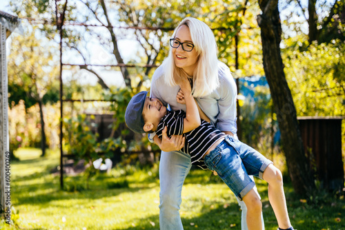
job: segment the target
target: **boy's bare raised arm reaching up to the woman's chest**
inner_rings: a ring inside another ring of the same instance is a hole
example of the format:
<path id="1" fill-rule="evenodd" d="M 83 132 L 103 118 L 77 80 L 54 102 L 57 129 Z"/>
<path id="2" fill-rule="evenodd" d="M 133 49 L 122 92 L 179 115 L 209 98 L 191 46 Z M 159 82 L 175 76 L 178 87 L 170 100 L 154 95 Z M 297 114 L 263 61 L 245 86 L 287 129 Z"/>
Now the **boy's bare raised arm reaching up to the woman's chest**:
<path id="1" fill-rule="evenodd" d="M 186 118 L 184 118 L 184 133 L 186 133 L 199 127 L 201 121 L 189 81 L 187 79 L 181 79 L 179 86 L 184 93 L 184 100 L 186 101 Z"/>

